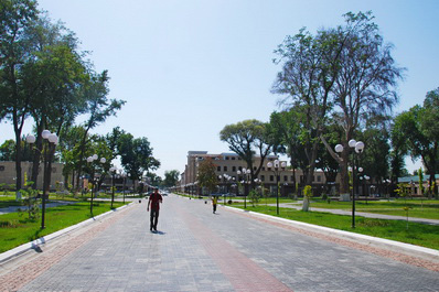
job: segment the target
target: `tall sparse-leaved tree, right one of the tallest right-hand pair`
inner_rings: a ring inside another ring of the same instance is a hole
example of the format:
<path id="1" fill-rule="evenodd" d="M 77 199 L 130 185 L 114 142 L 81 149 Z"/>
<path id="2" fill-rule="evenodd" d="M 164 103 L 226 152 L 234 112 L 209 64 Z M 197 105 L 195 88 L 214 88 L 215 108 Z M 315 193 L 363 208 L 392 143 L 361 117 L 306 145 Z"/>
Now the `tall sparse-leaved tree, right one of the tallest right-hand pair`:
<path id="1" fill-rule="evenodd" d="M 338 73 L 331 88 L 334 111 L 344 129 L 341 158 L 325 143 L 328 151 L 340 164 L 341 193 L 349 193 L 347 161 L 353 138 L 365 120 L 385 117 L 398 101 L 395 87 L 404 68 L 397 67 L 392 57 L 390 44 L 386 44 L 378 26 L 372 22 L 371 12 L 349 12 L 345 25 L 339 25 L 338 43 L 343 44 L 338 56 Z M 321 136 L 323 140 L 323 136 Z"/>

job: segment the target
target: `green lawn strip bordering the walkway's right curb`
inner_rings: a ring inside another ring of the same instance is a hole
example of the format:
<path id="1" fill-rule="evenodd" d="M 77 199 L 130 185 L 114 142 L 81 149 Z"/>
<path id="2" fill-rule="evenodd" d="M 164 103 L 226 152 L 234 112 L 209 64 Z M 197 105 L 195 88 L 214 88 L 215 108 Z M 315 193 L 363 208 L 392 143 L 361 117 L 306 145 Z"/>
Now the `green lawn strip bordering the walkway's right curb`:
<path id="1" fill-rule="evenodd" d="M 237 207 L 235 205 L 233 206 Z M 240 206 L 239 208 L 243 207 Z M 247 205 L 247 210 L 277 216 L 276 207 L 272 206 L 266 207 L 265 205 L 259 205 L 253 207 Z M 392 239 L 432 249 L 439 249 L 439 226 L 416 224 L 409 221 L 407 230 L 407 223 L 405 220 L 382 220 L 356 217 L 356 228 L 352 229 L 351 216 L 334 215 L 321 212 L 301 212 L 290 208 L 280 208 L 279 213 L 279 217 L 287 219 Z"/>

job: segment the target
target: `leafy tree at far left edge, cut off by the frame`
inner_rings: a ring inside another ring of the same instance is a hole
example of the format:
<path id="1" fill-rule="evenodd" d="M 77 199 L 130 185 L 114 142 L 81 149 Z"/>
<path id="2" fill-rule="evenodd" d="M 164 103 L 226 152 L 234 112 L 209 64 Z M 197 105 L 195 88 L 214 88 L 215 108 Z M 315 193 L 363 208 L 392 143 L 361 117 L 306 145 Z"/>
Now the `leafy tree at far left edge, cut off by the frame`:
<path id="1" fill-rule="evenodd" d="M 29 116 L 30 97 L 23 93 L 21 67 L 29 61 L 28 29 L 38 19 L 36 2 L 4 0 L 0 2 L 0 120 L 12 121 L 15 133 L 15 190 L 21 190 L 21 136 Z"/>

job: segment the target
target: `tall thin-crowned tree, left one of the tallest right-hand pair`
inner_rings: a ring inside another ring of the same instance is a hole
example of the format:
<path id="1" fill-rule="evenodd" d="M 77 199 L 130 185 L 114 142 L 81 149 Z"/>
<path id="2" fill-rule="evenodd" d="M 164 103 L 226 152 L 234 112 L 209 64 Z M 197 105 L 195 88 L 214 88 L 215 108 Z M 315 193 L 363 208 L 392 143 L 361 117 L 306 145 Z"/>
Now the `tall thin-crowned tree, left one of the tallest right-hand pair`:
<path id="1" fill-rule="evenodd" d="M 275 51 L 279 56 L 275 63 L 282 63 L 282 71 L 271 91 L 286 95 L 280 104 L 300 112 L 301 142 L 307 156 L 306 184 L 311 184 L 314 176 L 319 137 L 332 108 L 331 90 L 344 41 L 334 30 L 322 30 L 314 36 L 301 29 L 295 36 L 287 36 Z"/>

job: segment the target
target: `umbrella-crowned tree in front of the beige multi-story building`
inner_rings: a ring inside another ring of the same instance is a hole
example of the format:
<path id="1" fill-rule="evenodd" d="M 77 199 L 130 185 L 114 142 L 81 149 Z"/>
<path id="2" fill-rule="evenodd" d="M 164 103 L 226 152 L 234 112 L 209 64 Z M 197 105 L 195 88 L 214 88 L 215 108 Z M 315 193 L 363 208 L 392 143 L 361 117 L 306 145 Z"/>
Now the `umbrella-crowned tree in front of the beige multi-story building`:
<path id="1" fill-rule="evenodd" d="M 258 176 L 265 159 L 272 149 L 274 141 L 267 131 L 267 125 L 255 119 L 227 125 L 220 132 L 220 139 L 227 142 L 228 148 L 246 162 L 247 169 L 250 170 L 251 187 L 254 187 L 254 180 Z M 259 165 L 254 165 L 255 153 L 260 158 Z"/>

